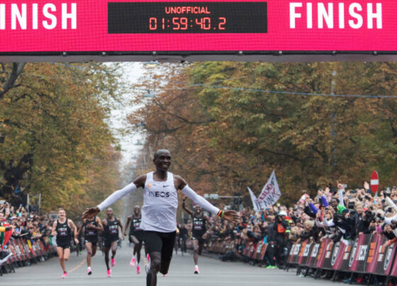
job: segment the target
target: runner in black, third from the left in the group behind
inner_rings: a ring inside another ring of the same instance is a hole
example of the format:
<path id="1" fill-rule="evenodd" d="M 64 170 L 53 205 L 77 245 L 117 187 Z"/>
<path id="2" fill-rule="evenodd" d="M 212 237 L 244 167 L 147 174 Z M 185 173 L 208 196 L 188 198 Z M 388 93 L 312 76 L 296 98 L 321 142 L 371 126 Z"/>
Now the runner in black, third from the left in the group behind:
<path id="1" fill-rule="evenodd" d="M 102 221 L 104 225 L 104 252 L 105 252 L 105 263 L 106 263 L 106 270 L 107 275 L 110 278 L 111 275 L 111 268 L 109 267 L 109 251 L 112 252 L 111 255 L 111 267 L 116 265 L 116 251 L 117 251 L 117 242 L 118 242 L 118 227 L 121 228 L 121 234 L 124 239 L 123 234 L 123 225 L 120 222 L 120 219 L 117 219 L 113 216 L 113 210 L 111 207 L 108 207 L 106 211 L 108 217 Z"/>

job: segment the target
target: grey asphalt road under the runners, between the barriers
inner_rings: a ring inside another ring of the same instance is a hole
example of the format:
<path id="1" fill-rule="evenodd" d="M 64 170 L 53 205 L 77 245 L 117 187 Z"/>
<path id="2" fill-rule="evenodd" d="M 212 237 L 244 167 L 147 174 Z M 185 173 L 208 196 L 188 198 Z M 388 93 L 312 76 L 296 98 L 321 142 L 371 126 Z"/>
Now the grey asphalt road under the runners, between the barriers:
<path id="1" fill-rule="evenodd" d="M 118 248 L 116 265 L 112 269 L 113 278 L 106 277 L 104 256 L 101 252 L 93 258 L 92 275 L 86 274 L 85 254 L 77 257 L 72 253 L 67 261 L 67 279 L 61 279 L 62 269 L 57 258 L 17 268 L 16 273 L 9 273 L 0 277 L 0 285 L 142 285 L 145 286 L 145 267 L 141 262 L 142 272 L 136 274 L 136 268 L 128 264 L 132 248 L 123 246 Z M 174 255 L 172 258 L 169 275 L 157 278 L 159 286 L 232 286 L 232 285 L 334 285 L 328 280 L 314 280 L 313 278 L 300 278 L 295 270 L 269 270 L 245 263 L 221 262 L 213 258 L 200 257 L 198 266 L 201 273 L 194 275 L 193 256 L 185 254 Z"/>

